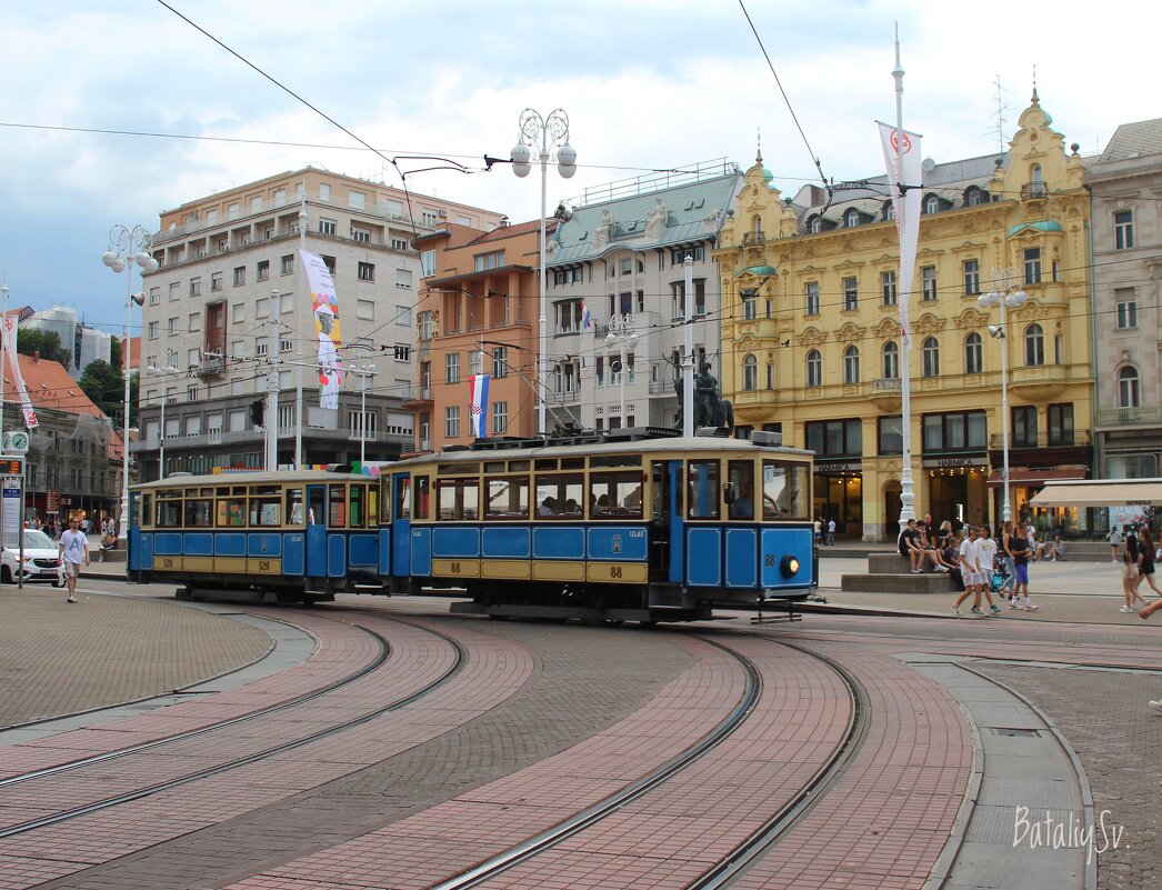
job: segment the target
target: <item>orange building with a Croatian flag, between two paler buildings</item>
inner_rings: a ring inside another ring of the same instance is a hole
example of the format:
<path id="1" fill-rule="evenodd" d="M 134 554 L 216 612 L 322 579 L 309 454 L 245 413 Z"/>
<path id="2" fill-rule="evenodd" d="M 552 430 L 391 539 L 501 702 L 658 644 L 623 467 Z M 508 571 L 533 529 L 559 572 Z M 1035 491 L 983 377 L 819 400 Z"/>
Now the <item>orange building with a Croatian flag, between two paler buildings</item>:
<path id="1" fill-rule="evenodd" d="M 413 242 L 423 285 L 418 376 L 404 407 L 416 412 L 419 451 L 476 438 L 472 375 L 480 373 L 492 375 L 487 435 L 537 435 L 539 228 L 539 220 L 487 232 L 450 223 Z"/>

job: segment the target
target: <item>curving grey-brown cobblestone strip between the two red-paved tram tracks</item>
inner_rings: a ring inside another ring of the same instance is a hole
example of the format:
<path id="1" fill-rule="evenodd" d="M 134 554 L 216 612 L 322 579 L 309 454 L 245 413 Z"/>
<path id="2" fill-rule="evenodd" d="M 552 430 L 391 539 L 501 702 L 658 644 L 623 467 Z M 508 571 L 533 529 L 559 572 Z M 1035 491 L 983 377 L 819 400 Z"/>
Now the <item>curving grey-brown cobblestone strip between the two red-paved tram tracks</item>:
<path id="1" fill-rule="evenodd" d="M 457 625 L 532 649 L 540 662 L 532 682 L 507 705 L 402 755 L 42 887 L 157 890 L 158 875 L 172 882 L 167 887 L 222 887 L 366 834 L 555 754 L 633 711 L 690 663 L 665 633 L 486 624 L 444 616 L 432 622 L 436 627 Z M 627 640 L 632 645 L 626 646 Z"/>

